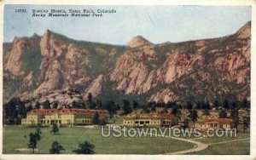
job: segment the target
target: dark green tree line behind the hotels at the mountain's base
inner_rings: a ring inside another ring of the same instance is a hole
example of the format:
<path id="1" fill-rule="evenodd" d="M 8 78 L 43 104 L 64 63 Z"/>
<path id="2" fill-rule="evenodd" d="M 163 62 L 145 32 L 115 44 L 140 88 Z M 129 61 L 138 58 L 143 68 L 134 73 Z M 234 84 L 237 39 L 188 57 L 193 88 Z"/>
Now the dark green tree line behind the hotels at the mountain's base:
<path id="1" fill-rule="evenodd" d="M 37 108 L 40 106 L 47 106 L 49 108 L 50 103 L 49 100 L 45 101 L 43 104 L 36 103 Z M 57 106 L 58 104 L 53 104 L 53 106 Z M 74 106 L 75 107 L 75 106 Z M 228 109 L 232 110 L 234 108 L 250 108 L 250 100 L 198 100 L 198 101 L 168 101 L 168 102 L 155 102 L 149 101 L 147 103 L 140 103 L 137 100 L 126 100 L 123 99 L 120 102 L 115 102 L 113 100 L 102 101 L 100 99 L 94 99 L 92 94 L 88 94 L 87 99 L 84 100 L 84 106 L 78 106 L 79 108 L 84 109 L 104 109 L 109 113 L 109 117 L 112 118 L 117 111 L 120 111 L 120 114 L 127 115 L 132 111 L 137 109 L 142 109 L 141 113 L 149 113 L 156 112 L 156 108 L 163 107 L 165 108 L 160 113 L 168 112 L 167 109 L 173 109 L 174 113 L 177 112 L 177 108 L 179 109 L 201 109 L 201 110 L 210 110 L 212 108 L 215 109 Z M 20 124 L 21 118 L 26 117 L 26 113 L 32 110 L 32 106 L 25 107 L 25 103 L 19 100 L 18 98 L 14 98 L 9 100 L 3 106 L 3 123 L 5 124 Z M 102 122 L 104 123 L 104 122 Z"/>

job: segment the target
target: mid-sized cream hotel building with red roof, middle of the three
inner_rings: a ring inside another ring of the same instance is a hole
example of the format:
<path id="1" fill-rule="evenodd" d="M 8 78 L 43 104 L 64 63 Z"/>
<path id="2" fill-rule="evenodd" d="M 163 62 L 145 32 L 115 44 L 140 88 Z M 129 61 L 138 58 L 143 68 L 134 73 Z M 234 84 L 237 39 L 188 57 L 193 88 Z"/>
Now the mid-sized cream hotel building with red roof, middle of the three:
<path id="1" fill-rule="evenodd" d="M 128 127 L 171 127 L 178 123 L 172 114 L 151 113 L 131 114 L 124 117 L 124 125 Z"/>

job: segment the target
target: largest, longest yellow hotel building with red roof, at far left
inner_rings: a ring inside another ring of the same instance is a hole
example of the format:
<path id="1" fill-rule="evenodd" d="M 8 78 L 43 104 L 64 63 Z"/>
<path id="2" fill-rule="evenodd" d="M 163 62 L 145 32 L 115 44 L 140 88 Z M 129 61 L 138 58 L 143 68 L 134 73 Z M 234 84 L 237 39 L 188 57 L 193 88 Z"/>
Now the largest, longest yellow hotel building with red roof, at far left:
<path id="1" fill-rule="evenodd" d="M 60 126 L 88 125 L 96 114 L 108 122 L 108 111 L 84 109 L 38 109 L 29 111 L 26 118 L 21 119 L 22 125 L 49 126 L 54 123 Z"/>

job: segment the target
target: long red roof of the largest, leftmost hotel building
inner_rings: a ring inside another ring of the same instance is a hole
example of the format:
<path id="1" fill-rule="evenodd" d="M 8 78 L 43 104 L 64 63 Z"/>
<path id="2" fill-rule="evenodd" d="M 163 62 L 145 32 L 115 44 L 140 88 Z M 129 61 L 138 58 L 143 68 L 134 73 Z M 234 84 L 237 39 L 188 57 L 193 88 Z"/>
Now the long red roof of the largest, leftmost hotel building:
<path id="1" fill-rule="evenodd" d="M 51 113 L 84 113 L 84 114 L 95 114 L 98 112 L 99 114 L 108 114 L 108 111 L 105 110 L 84 110 L 84 109 L 38 109 L 29 111 L 29 114 L 51 114 Z"/>

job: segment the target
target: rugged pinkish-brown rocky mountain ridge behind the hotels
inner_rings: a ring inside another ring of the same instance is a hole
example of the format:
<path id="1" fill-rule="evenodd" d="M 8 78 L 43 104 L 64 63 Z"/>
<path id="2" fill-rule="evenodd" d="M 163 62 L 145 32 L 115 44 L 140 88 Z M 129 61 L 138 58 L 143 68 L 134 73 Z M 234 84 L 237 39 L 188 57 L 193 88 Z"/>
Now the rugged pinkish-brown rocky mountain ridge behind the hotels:
<path id="1" fill-rule="evenodd" d="M 88 93 L 103 100 L 242 100 L 250 96 L 250 32 L 248 22 L 226 37 L 154 44 L 137 36 L 127 46 L 79 42 L 53 31 L 17 37 L 3 43 L 3 101 L 41 102 L 44 94 L 52 104 L 49 93 L 65 89 L 80 93 L 64 98 L 69 104 Z"/>

